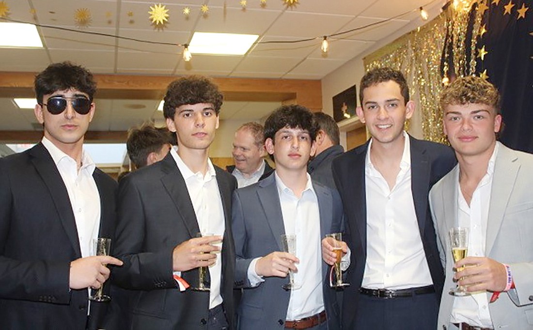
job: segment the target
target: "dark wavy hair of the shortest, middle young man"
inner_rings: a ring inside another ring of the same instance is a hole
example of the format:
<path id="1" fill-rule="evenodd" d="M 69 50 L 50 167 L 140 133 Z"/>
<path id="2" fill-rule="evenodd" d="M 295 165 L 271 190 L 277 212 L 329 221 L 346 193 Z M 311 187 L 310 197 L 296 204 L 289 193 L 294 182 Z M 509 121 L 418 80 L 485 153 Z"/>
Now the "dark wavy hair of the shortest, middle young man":
<path id="1" fill-rule="evenodd" d="M 313 113 L 302 105 L 282 105 L 274 110 L 265 121 L 265 139 L 271 138 L 274 143 L 277 131 L 285 127 L 307 130 L 311 141 L 317 137 L 318 123 Z"/>

